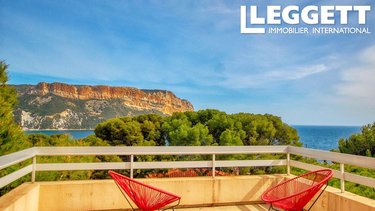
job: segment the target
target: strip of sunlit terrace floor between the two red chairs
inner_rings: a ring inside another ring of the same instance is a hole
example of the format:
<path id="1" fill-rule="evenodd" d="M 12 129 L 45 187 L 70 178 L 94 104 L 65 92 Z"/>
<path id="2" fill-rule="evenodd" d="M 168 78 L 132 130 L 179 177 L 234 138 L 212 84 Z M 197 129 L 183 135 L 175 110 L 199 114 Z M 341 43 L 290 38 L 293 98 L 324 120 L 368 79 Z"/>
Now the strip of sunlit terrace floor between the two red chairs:
<path id="1" fill-rule="evenodd" d="M 266 203 L 260 203 L 260 204 L 244 204 L 244 205 L 229 205 L 229 206 L 177 208 L 175 209 L 175 211 L 268 211 L 269 208 L 270 208 L 270 205 Z M 280 211 L 284 210 L 280 208 L 277 208 L 277 209 Z"/>

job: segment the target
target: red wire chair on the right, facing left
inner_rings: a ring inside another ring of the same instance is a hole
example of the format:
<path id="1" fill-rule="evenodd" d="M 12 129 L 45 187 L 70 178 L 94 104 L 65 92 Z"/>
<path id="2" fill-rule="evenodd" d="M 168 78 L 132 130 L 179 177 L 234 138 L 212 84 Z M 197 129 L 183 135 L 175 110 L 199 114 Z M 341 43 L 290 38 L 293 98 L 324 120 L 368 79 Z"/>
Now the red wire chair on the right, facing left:
<path id="1" fill-rule="evenodd" d="M 331 169 L 305 173 L 270 188 L 262 194 L 262 200 L 271 205 L 268 209 L 269 211 L 271 208 L 277 211 L 272 205 L 283 208 L 286 211 L 301 211 L 325 183 L 327 183 L 326 187 L 328 186 L 328 180 L 332 175 L 333 170 Z M 324 187 L 323 191 L 326 187 Z M 318 198 L 308 210 L 312 208 Z"/>

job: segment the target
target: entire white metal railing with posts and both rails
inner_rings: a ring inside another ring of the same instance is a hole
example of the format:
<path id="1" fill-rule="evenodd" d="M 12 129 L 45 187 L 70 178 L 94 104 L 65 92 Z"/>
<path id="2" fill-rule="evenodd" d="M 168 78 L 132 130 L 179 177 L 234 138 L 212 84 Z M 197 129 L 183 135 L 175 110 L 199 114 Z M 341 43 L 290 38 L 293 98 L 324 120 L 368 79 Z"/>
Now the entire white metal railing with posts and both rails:
<path id="1" fill-rule="evenodd" d="M 286 153 L 283 160 L 215 160 L 216 154 L 281 154 Z M 134 155 L 194 155 L 211 154 L 210 161 L 154 161 L 134 162 Z M 35 171 L 48 170 L 104 170 L 130 169 L 169 169 L 192 167 L 243 167 L 243 166 L 290 166 L 306 170 L 325 169 L 321 166 L 290 160 L 290 154 L 318 158 L 340 163 L 341 170 L 333 170 L 333 177 L 341 179 L 341 192 L 344 193 L 344 181 L 375 188 L 375 179 L 344 172 L 344 164 L 375 169 L 375 158 L 357 155 L 328 152 L 317 149 L 306 149 L 294 146 L 67 146 L 67 147 L 33 147 L 0 157 L 0 169 L 33 158 L 33 164 L 23 167 L 0 178 L 0 187 L 21 178 L 31 172 L 31 182 L 35 181 Z M 36 156 L 53 155 L 130 155 L 130 162 L 117 163 L 36 163 Z M 213 177 L 215 172 L 213 171 Z"/>

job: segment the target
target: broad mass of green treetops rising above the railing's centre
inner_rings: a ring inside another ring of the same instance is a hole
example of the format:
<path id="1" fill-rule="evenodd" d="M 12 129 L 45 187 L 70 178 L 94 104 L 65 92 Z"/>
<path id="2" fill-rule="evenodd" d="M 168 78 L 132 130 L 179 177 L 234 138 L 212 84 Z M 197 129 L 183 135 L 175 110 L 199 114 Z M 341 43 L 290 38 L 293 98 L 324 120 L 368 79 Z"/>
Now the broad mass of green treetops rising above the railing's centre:
<path id="1" fill-rule="evenodd" d="M 96 137 L 112 146 L 133 146 L 153 142 L 155 146 L 302 146 L 297 130 L 269 114 L 237 113 L 219 110 L 176 112 L 120 117 L 98 124 Z"/>

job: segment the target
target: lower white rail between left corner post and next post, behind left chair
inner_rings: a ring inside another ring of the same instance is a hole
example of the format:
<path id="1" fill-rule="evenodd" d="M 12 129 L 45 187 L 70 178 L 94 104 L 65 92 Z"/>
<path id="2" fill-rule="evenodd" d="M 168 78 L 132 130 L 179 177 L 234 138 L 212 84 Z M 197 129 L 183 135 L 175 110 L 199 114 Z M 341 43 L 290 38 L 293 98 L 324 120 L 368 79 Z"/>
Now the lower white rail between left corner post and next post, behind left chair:
<path id="1" fill-rule="evenodd" d="M 56 170 L 105 170 L 105 169 L 130 169 L 130 162 L 113 163 L 37 163 L 37 171 Z"/>

